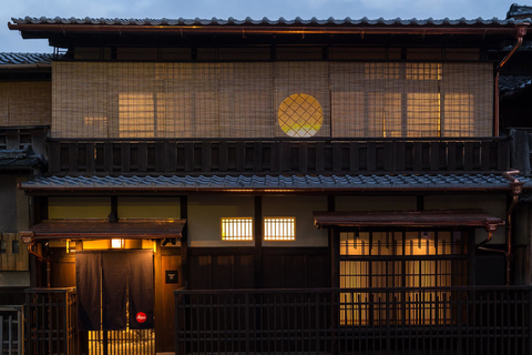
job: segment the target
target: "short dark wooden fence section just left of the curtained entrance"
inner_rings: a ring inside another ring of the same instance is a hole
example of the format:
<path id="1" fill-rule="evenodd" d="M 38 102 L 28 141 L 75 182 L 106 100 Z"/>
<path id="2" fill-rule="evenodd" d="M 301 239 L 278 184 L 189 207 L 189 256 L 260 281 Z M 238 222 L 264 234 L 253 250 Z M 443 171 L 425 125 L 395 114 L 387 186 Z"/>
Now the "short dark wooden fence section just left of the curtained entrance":
<path id="1" fill-rule="evenodd" d="M 75 306 L 73 287 L 28 288 L 27 354 L 79 354 Z"/>

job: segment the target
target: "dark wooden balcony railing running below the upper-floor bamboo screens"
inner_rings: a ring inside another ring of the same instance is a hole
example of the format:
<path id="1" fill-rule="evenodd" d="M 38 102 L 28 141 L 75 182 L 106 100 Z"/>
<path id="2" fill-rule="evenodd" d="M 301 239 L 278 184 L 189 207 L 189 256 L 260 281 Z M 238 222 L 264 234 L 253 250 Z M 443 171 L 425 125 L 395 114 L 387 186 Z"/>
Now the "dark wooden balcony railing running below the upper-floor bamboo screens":
<path id="1" fill-rule="evenodd" d="M 49 173 L 364 174 L 510 169 L 509 138 L 49 141 Z"/>

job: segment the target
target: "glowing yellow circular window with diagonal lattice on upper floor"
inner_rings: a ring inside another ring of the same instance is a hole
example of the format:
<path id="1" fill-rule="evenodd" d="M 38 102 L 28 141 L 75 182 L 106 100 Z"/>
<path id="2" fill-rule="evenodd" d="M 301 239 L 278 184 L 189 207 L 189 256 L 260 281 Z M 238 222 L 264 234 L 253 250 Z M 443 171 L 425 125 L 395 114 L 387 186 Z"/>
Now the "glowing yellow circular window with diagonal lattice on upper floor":
<path id="1" fill-rule="evenodd" d="M 283 132 L 296 138 L 315 135 L 324 123 L 318 100 L 305 93 L 295 93 L 283 100 L 277 116 Z"/>

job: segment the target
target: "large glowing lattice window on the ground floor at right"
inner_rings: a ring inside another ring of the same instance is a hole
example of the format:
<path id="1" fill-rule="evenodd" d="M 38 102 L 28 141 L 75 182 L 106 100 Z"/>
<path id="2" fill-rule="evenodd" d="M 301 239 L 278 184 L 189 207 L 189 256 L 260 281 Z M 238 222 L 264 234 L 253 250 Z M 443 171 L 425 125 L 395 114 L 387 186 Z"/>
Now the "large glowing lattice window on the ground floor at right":
<path id="1" fill-rule="evenodd" d="M 461 285 L 466 277 L 462 268 L 464 262 L 443 258 L 451 254 L 462 257 L 467 255 L 460 232 L 340 233 L 340 287 L 346 291 L 340 294 L 341 324 L 450 323 L 450 310 L 433 306 L 437 300 L 449 302 L 450 300 L 444 300 L 449 294 L 424 290 L 379 293 L 368 292 L 368 288 Z M 433 257 L 436 255 L 442 258 L 437 260 Z M 382 302 L 387 296 L 393 297 L 396 302 L 395 314 L 386 314 L 383 311 Z M 419 307 L 416 306 L 418 303 Z M 401 304 L 407 308 L 401 310 Z"/>

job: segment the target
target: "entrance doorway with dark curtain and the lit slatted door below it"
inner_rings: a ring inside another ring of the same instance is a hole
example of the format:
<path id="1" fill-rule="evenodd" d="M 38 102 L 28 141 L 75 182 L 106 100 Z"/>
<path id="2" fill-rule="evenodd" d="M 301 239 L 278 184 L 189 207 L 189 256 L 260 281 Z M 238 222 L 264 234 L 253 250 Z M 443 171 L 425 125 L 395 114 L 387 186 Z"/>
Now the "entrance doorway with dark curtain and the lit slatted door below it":
<path id="1" fill-rule="evenodd" d="M 89 354 L 155 354 L 153 252 L 81 251 L 75 273 Z"/>

